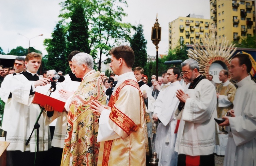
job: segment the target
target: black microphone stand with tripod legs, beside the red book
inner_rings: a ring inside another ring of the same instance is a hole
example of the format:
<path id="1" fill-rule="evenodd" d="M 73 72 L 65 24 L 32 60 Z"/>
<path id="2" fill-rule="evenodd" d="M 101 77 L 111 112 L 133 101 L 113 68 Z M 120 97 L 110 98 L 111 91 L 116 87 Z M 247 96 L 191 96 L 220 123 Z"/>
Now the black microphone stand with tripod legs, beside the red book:
<path id="1" fill-rule="evenodd" d="M 52 86 L 51 86 L 51 88 L 48 90 L 48 92 L 51 92 L 51 93 L 49 94 L 49 96 L 51 96 L 52 92 L 55 92 L 55 90 L 56 90 L 56 84 L 57 84 L 57 83 L 58 83 L 58 81 L 56 81 L 56 82 L 55 82 L 55 81 L 52 81 L 52 82 L 51 82 Z M 48 92 L 47 92 L 47 93 L 48 93 Z M 26 146 L 28 146 L 28 144 L 29 144 L 29 142 L 30 142 L 30 139 L 31 139 L 31 136 L 32 136 L 32 134 L 33 134 L 33 132 L 34 132 L 34 130 L 37 129 L 37 151 L 36 151 L 36 152 L 39 152 L 39 127 L 40 127 L 40 125 L 39 125 L 38 121 L 39 121 L 39 119 L 40 119 L 40 117 L 41 117 L 41 115 L 42 115 L 42 113 L 43 113 L 43 110 L 44 110 L 44 107 L 41 108 L 41 112 L 40 112 L 39 116 L 37 117 L 37 121 L 36 121 L 35 124 L 34 124 L 34 128 L 33 128 L 32 132 L 31 132 L 31 134 L 30 134 L 30 136 L 29 136 L 29 138 L 28 138 L 28 140 L 27 140 L 27 142 L 26 142 Z"/>

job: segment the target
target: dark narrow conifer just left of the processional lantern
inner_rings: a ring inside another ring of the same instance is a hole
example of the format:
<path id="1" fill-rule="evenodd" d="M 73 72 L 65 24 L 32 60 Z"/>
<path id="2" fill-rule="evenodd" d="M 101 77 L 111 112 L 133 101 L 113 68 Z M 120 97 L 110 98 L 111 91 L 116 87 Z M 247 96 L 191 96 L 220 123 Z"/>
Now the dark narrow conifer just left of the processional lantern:
<path id="1" fill-rule="evenodd" d="M 133 68 L 142 67 L 144 68 L 147 63 L 147 51 L 146 44 L 147 41 L 143 35 L 143 25 L 139 24 L 137 27 L 134 27 L 136 33 L 132 36 L 130 40 L 130 46 L 134 51 L 135 62 L 133 64 Z"/>

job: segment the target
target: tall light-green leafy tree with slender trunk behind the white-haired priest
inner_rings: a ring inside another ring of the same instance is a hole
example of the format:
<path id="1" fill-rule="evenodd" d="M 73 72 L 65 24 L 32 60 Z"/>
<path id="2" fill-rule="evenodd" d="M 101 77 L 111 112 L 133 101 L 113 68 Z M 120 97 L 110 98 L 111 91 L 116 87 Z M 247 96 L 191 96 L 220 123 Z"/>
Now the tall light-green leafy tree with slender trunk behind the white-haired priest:
<path id="1" fill-rule="evenodd" d="M 90 31 L 92 52 L 99 55 L 98 70 L 101 70 L 102 55 L 109 56 L 108 51 L 120 43 L 130 39 L 130 24 L 123 23 L 122 17 L 127 16 L 122 6 L 127 6 L 126 0 L 94 1 L 94 15 L 91 18 L 93 26 Z"/>

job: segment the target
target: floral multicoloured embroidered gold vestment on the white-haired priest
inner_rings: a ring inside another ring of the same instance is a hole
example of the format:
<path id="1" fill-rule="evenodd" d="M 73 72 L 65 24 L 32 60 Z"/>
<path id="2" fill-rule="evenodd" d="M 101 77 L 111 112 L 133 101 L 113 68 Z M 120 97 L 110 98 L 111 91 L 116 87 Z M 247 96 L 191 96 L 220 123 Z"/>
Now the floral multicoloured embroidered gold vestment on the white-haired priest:
<path id="1" fill-rule="evenodd" d="M 100 143 L 97 142 L 98 117 L 88 103 L 98 100 L 106 105 L 100 72 L 87 73 L 69 105 L 67 131 L 61 165 L 96 166 Z"/>

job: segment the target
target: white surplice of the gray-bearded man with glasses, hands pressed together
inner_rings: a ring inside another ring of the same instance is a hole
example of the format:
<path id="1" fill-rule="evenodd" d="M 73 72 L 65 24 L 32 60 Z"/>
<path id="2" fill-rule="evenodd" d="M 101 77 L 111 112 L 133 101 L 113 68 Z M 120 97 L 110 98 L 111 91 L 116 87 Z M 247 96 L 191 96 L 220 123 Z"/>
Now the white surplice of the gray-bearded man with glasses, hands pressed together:
<path id="1" fill-rule="evenodd" d="M 180 125 L 175 151 L 191 156 L 212 154 L 215 149 L 214 118 L 217 118 L 215 87 L 208 79 L 202 79 L 195 89 L 187 89 L 185 93 L 189 98 L 181 113 L 176 114 Z"/>

